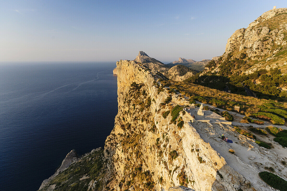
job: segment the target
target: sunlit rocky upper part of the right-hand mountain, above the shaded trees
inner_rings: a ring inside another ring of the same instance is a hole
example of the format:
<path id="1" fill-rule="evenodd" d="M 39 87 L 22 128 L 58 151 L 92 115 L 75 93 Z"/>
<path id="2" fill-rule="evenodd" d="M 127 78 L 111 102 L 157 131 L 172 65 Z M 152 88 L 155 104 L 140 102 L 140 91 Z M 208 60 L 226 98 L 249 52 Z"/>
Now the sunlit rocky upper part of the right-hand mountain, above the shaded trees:
<path id="1" fill-rule="evenodd" d="M 287 8 L 263 13 L 247 28 L 236 30 L 228 39 L 223 59 L 244 59 L 243 73 L 279 67 L 287 73 Z M 246 56 L 245 56 L 246 55 Z M 246 57 L 246 58 L 245 58 Z"/>

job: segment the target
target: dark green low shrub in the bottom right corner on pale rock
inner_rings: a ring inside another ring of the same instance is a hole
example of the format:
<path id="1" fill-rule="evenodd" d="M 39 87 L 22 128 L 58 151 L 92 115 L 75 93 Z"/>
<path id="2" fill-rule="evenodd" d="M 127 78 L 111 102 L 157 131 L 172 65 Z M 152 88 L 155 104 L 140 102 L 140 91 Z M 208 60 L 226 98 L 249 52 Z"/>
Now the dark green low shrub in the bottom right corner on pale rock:
<path id="1" fill-rule="evenodd" d="M 287 191 L 287 181 L 280 178 L 276 174 L 271 172 L 263 171 L 259 172 L 259 177 L 266 182 L 269 186 L 281 191 Z"/>

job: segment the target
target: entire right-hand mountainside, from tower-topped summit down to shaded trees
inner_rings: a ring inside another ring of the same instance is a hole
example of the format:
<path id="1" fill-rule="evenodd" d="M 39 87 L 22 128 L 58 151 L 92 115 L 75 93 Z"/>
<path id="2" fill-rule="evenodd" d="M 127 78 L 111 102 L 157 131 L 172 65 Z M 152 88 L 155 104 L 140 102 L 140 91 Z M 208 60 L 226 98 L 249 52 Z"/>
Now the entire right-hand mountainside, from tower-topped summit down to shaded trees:
<path id="1" fill-rule="evenodd" d="M 272 9 L 236 30 L 226 52 L 187 81 L 259 98 L 286 98 L 286 50 L 287 8 Z"/>

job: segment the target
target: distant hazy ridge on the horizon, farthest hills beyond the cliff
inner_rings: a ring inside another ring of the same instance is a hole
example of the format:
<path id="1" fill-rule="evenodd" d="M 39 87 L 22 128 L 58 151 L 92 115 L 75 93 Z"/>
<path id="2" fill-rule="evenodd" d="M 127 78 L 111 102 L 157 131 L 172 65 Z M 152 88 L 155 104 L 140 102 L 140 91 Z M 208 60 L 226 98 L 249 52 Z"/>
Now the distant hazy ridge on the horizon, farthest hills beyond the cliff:
<path id="1" fill-rule="evenodd" d="M 210 60 L 204 59 L 202 61 L 194 61 L 192 59 L 184 59 L 184 58 L 179 58 L 178 61 L 174 61 L 172 63 L 167 64 L 168 66 L 175 66 L 175 65 L 184 65 L 186 67 L 189 67 L 190 69 L 193 69 L 194 71 L 203 71 L 205 68 L 205 65 L 208 64 Z"/>

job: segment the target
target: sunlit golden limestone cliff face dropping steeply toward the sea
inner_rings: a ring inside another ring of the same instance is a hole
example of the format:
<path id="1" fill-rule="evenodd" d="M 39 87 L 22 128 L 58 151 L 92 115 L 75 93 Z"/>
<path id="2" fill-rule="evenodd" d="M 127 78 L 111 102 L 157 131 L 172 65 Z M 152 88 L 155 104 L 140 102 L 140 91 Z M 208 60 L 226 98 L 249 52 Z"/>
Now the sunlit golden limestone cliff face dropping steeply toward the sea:
<path id="1" fill-rule="evenodd" d="M 116 171 L 110 184 L 117 190 L 141 190 L 145 185 L 155 190 L 177 185 L 201 191 L 245 189 L 246 180 L 200 138 L 187 115 L 179 114 L 182 128 L 177 119 L 171 122 L 171 115 L 162 116 L 168 107 L 188 102 L 166 88 L 159 91 L 160 75 L 133 61 L 118 62 L 117 70 L 119 112 L 105 145 L 105 157 Z M 170 96 L 168 105 L 161 104 Z M 147 181 L 140 181 L 141 173 L 149 175 Z"/>

